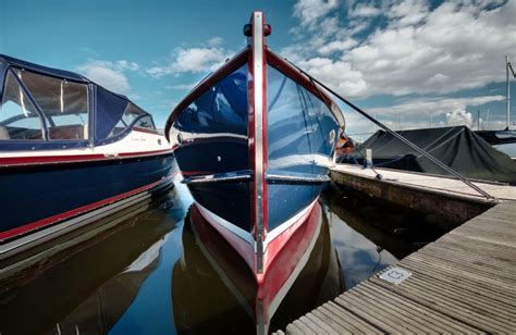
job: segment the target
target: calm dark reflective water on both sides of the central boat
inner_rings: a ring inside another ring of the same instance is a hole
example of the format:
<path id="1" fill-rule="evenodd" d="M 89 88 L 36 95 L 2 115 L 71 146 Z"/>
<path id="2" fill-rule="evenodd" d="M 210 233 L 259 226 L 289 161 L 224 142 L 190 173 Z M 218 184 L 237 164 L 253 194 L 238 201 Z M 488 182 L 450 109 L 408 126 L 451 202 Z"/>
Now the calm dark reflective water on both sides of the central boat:
<path id="1" fill-rule="evenodd" d="M 253 333 L 249 308 L 192 231 L 191 204 L 175 183 L 160 199 L 106 220 L 121 221 L 110 231 L 54 248 L 4 280 L 0 333 Z M 443 233 L 429 228 L 428 218 L 367 198 L 328 191 L 321 204 L 320 236 L 271 331 Z"/>

